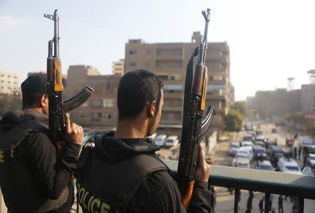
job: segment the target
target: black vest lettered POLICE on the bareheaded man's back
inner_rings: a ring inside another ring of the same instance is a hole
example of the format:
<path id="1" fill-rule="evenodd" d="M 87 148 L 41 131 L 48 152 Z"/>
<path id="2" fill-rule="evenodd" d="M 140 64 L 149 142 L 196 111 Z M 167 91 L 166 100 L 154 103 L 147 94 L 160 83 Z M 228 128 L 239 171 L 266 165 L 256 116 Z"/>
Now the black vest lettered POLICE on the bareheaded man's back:
<path id="1" fill-rule="evenodd" d="M 96 142 L 97 143 L 97 142 Z M 125 212 L 132 195 L 151 172 L 167 171 L 155 153 L 109 163 L 95 147 L 85 146 L 77 174 L 77 198 L 83 212 Z"/>

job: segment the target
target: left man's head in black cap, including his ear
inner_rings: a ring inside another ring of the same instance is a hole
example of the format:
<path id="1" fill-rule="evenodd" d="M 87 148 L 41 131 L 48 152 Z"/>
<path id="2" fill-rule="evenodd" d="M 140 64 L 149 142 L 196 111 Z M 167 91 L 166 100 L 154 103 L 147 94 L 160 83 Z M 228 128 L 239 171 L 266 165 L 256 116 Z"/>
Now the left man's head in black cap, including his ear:
<path id="1" fill-rule="evenodd" d="M 46 75 L 33 74 L 21 84 L 22 109 L 37 109 L 48 115 L 48 96 L 46 95 Z"/>

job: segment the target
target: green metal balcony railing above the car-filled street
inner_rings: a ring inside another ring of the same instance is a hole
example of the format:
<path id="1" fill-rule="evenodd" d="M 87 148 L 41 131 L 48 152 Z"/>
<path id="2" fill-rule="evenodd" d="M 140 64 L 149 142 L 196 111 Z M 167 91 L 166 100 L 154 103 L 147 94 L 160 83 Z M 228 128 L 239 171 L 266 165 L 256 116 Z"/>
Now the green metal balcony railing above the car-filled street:
<path id="1" fill-rule="evenodd" d="M 172 172 L 177 171 L 178 161 L 163 161 Z M 304 198 L 315 200 L 314 176 L 211 165 L 209 183 L 213 186 L 235 188 L 235 213 L 239 210 L 240 189 L 265 193 L 265 213 L 269 213 L 270 210 L 271 193 L 297 197 L 299 213 L 304 212 Z"/>

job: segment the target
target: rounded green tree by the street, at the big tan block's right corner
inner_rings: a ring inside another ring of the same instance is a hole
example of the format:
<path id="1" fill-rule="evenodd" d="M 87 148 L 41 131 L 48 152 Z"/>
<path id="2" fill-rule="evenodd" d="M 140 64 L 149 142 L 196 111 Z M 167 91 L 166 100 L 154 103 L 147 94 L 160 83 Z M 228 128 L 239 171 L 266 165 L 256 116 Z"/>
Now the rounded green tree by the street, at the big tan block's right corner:
<path id="1" fill-rule="evenodd" d="M 230 109 L 229 113 L 224 116 L 225 130 L 228 132 L 239 132 L 243 125 L 243 117 L 239 111 Z"/>

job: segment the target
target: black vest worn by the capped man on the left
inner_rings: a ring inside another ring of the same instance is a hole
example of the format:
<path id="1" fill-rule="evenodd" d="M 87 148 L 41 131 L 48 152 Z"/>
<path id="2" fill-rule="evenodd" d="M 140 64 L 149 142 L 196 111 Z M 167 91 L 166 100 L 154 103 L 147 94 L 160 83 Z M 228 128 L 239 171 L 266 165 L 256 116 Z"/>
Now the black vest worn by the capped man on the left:
<path id="1" fill-rule="evenodd" d="M 14 114 L 6 114 L 14 118 Z M 3 118 L 5 119 L 5 116 Z M 17 159 L 15 148 L 23 142 L 31 132 L 48 133 L 48 129 L 34 121 L 34 116 L 15 116 L 13 123 L 0 123 L 0 186 L 3 199 L 10 212 L 48 212 L 60 207 L 69 195 L 66 187 L 57 200 L 50 200 L 38 192 L 35 183 L 25 165 L 26 161 Z M 21 199 L 29 200 L 21 207 Z"/>

